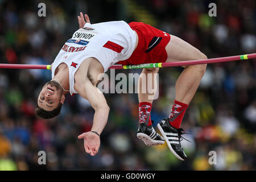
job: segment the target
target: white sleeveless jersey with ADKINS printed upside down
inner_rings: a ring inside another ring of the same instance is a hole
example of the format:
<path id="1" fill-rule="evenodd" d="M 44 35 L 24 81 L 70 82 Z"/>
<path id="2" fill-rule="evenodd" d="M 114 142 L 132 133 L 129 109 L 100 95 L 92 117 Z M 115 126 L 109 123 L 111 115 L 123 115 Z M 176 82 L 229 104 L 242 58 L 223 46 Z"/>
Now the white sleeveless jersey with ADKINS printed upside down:
<path id="1" fill-rule="evenodd" d="M 136 35 L 129 24 L 124 21 L 86 23 L 77 30 L 61 48 L 52 64 L 52 78 L 55 69 L 61 63 L 69 68 L 69 93 L 77 93 L 74 89 L 75 72 L 88 57 L 95 57 L 104 72 L 121 60 L 128 59 L 135 49 Z"/>

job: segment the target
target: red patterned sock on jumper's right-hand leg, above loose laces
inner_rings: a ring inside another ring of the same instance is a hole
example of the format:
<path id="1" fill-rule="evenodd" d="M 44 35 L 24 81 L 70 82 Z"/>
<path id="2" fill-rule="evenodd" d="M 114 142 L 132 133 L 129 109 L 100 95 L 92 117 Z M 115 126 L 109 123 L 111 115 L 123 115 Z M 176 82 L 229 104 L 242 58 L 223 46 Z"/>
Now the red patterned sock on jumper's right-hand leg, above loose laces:
<path id="1" fill-rule="evenodd" d="M 176 129 L 180 128 L 187 107 L 187 104 L 176 100 L 174 101 L 174 105 L 172 105 L 172 111 L 169 115 L 169 123 L 171 126 L 175 127 Z"/>

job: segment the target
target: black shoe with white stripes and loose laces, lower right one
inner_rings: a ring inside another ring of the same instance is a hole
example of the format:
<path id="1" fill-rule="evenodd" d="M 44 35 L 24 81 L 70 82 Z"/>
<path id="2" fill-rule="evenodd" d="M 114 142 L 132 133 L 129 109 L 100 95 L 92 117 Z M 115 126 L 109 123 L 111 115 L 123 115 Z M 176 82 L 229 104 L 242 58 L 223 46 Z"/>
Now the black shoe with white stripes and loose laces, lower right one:
<path id="1" fill-rule="evenodd" d="M 158 129 L 163 135 L 168 147 L 170 148 L 171 152 L 176 156 L 176 158 L 180 160 L 185 160 L 187 158 L 187 155 L 185 154 L 180 144 L 180 141 L 184 139 L 183 137 L 181 137 L 182 134 L 185 134 L 184 130 L 181 128 L 176 129 L 175 127 L 172 127 L 168 119 L 163 119 L 161 122 L 159 122 Z"/>

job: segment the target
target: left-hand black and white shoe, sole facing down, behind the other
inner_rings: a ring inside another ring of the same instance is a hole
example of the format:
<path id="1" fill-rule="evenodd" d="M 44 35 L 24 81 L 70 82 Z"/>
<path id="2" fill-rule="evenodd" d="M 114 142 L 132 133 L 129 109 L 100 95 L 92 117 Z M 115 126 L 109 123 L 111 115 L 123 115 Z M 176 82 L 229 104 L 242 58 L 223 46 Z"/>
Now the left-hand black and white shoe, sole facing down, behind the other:
<path id="1" fill-rule="evenodd" d="M 147 146 L 164 144 L 164 138 L 156 133 L 152 125 L 147 126 L 146 123 L 139 124 L 137 137 L 141 139 Z"/>

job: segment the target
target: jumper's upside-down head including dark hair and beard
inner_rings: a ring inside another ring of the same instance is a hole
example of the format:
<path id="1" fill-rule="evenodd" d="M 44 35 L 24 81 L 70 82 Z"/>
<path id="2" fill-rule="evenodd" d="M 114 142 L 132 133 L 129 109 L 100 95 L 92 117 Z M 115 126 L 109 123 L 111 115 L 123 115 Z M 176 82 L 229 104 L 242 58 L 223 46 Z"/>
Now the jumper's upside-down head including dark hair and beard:
<path id="1" fill-rule="evenodd" d="M 63 88 L 55 81 L 47 82 L 38 96 L 38 106 L 35 109 L 36 115 L 49 119 L 60 114 L 61 106 L 65 101 Z"/>

